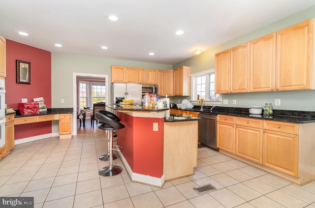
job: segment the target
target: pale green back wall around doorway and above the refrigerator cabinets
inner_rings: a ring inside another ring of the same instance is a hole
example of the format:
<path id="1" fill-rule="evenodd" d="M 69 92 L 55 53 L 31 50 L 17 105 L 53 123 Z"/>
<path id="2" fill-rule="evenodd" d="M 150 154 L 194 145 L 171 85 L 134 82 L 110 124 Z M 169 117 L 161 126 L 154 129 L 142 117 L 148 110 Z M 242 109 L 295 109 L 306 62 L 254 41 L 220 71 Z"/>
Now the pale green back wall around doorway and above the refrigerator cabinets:
<path id="1" fill-rule="evenodd" d="M 73 72 L 107 74 L 111 79 L 111 66 L 172 69 L 172 65 L 156 64 L 101 57 L 52 53 L 52 108 L 73 108 Z M 64 103 L 61 103 L 64 99 Z"/>

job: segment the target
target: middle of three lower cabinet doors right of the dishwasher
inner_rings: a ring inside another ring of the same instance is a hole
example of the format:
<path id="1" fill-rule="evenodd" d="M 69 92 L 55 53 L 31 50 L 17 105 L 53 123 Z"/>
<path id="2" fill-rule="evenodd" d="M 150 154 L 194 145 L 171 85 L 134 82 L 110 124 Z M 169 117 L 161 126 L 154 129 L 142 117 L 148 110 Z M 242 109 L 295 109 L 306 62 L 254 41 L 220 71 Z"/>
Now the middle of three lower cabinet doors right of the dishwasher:
<path id="1" fill-rule="evenodd" d="M 262 164 L 263 130 L 248 126 L 235 126 L 235 154 Z"/>

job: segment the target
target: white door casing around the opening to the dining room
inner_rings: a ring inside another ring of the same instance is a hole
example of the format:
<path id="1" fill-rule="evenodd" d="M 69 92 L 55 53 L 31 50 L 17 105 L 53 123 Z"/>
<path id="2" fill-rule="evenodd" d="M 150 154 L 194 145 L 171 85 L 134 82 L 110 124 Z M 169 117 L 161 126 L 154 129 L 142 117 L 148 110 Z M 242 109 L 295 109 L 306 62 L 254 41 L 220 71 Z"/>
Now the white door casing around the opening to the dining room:
<path id="1" fill-rule="evenodd" d="M 75 73 L 73 72 L 73 122 L 72 122 L 72 135 L 77 135 L 77 118 L 76 115 L 77 113 L 77 109 L 78 109 L 78 103 L 77 103 L 77 90 L 78 90 L 78 86 L 77 86 L 77 78 L 81 78 L 81 77 L 85 77 L 87 79 L 104 79 L 105 81 L 105 93 L 106 93 L 106 97 L 105 97 L 105 102 L 108 103 L 109 102 L 109 80 L 108 80 L 108 75 L 105 74 L 89 74 L 89 73 Z M 86 121 L 89 122 L 90 120 Z"/>

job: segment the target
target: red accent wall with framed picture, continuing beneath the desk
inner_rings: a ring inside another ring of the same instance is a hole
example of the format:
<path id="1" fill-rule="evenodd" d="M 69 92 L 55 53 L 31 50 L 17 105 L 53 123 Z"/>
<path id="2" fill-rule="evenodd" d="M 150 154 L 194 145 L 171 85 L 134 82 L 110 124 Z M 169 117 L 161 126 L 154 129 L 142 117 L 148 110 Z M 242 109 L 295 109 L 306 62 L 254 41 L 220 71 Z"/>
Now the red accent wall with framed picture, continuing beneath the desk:
<path id="1" fill-rule="evenodd" d="M 31 85 L 16 83 L 16 60 L 31 62 Z M 7 108 L 18 110 L 22 98 L 29 102 L 44 97 L 51 108 L 51 53 L 29 45 L 6 39 L 5 102 Z M 15 139 L 48 134 L 52 132 L 51 121 L 16 125 Z"/>

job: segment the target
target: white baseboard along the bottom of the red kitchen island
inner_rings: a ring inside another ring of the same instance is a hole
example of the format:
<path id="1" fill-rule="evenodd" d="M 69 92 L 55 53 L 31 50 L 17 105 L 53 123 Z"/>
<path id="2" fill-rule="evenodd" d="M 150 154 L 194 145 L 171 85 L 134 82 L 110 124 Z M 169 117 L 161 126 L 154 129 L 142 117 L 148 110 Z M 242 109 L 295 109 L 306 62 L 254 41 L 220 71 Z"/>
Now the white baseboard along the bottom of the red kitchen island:
<path id="1" fill-rule="evenodd" d="M 165 182 L 165 176 L 164 175 L 161 178 L 157 178 L 157 177 L 133 173 L 129 164 L 127 163 L 126 158 L 124 157 L 123 153 L 121 151 L 117 151 L 117 152 L 118 152 L 122 162 L 124 163 L 126 171 L 129 174 L 132 181 L 145 183 L 145 184 L 153 185 L 153 186 L 157 186 L 157 187 L 163 186 L 163 184 Z"/>

